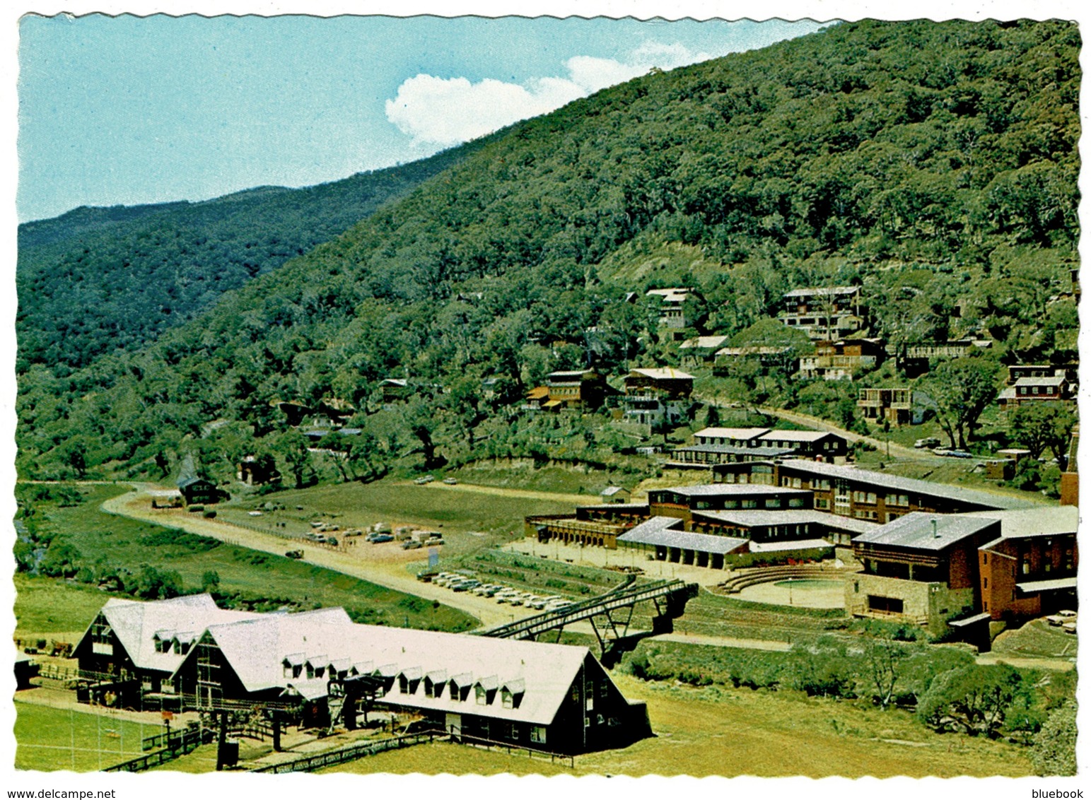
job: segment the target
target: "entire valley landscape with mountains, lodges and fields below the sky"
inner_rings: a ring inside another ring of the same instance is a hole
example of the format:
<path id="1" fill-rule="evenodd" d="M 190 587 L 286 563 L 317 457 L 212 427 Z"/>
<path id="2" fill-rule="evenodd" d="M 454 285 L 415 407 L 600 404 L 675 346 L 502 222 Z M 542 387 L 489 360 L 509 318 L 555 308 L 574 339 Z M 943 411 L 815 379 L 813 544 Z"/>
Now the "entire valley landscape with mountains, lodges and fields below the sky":
<path id="1" fill-rule="evenodd" d="M 1079 48 L 21 225 L 15 767 L 1075 774 Z"/>

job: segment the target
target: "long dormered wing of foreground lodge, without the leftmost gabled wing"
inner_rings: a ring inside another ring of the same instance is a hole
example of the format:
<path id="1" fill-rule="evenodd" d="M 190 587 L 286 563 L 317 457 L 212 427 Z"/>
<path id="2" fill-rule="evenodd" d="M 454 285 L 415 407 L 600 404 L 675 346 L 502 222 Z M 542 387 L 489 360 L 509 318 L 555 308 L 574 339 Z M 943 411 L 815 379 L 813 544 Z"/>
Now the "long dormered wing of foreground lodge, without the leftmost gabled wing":
<path id="1" fill-rule="evenodd" d="M 369 679 L 376 705 L 418 715 L 456 739 L 562 753 L 651 732 L 644 704 L 625 700 L 587 647 L 355 625 L 341 609 L 324 610 L 336 615 L 266 614 L 209 626 L 175 682 L 199 707 L 288 695 L 328 714 L 336 711 L 322 706 L 333 687 Z"/>

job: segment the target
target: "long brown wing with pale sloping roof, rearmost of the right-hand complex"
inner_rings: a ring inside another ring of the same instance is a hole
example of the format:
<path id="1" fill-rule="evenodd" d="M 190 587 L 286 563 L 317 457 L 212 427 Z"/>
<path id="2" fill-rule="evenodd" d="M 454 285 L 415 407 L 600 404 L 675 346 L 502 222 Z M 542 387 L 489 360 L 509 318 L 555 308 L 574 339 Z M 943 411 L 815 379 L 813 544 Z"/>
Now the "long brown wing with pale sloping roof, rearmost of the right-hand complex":
<path id="1" fill-rule="evenodd" d="M 1031 505 L 1008 495 L 804 459 L 716 464 L 712 481 L 808 489 L 819 511 L 879 523 L 911 511 L 967 513 Z"/>

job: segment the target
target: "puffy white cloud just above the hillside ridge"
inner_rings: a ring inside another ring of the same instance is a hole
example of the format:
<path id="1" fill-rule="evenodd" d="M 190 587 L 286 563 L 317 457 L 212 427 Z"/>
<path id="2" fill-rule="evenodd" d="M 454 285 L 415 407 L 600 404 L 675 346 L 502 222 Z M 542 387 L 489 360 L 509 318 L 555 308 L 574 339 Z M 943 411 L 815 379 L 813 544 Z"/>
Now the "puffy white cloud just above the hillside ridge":
<path id="1" fill-rule="evenodd" d="M 624 63 L 574 56 L 564 62 L 566 76 L 533 78 L 525 85 L 488 77 L 470 83 L 465 77 L 420 74 L 404 81 L 394 99 L 386 101 L 386 119 L 412 136 L 415 145 L 446 147 L 548 113 L 579 97 L 643 75 L 652 66 L 672 70 L 710 58 L 715 56 L 693 53 L 682 45 L 647 41 Z"/>

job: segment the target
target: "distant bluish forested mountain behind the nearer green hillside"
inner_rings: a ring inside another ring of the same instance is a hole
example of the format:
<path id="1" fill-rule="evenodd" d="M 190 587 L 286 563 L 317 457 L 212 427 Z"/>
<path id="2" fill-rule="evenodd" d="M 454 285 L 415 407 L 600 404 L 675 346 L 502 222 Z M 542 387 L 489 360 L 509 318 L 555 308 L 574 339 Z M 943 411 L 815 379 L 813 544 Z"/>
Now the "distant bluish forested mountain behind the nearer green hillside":
<path id="1" fill-rule="evenodd" d="M 65 375 L 116 348 L 139 350 L 472 150 L 305 189 L 84 207 L 25 222 L 16 272 L 19 371 L 44 364 Z"/>

